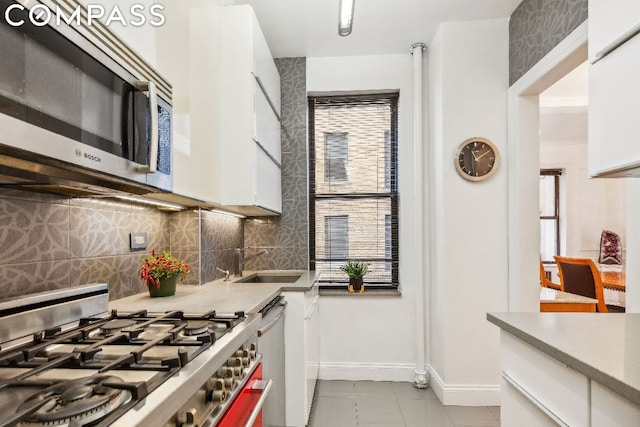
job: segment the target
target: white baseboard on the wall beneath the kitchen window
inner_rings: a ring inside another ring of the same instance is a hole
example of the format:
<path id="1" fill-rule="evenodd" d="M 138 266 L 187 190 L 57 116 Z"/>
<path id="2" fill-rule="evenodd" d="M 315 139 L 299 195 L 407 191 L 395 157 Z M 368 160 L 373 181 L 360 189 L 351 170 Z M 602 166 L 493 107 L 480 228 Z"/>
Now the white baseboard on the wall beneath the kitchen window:
<path id="1" fill-rule="evenodd" d="M 320 363 L 321 380 L 412 382 L 415 365 L 404 363 Z"/>

